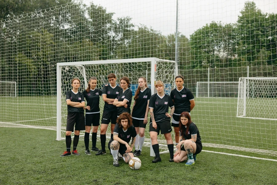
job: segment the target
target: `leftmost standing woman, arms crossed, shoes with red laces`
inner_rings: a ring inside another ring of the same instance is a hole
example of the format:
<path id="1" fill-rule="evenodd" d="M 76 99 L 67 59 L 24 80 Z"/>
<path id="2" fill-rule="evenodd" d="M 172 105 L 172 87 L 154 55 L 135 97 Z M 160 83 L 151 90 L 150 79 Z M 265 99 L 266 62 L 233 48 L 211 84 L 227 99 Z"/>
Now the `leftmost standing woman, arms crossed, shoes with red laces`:
<path id="1" fill-rule="evenodd" d="M 74 131 L 74 125 L 75 131 L 72 154 L 80 155 L 76 149 L 79 141 L 80 130 L 85 130 L 85 117 L 83 109 L 83 107 L 85 107 L 85 98 L 83 93 L 78 91 L 80 84 L 81 81 L 78 78 L 74 78 L 71 81 L 71 86 L 73 87 L 73 89 L 66 92 L 66 151 L 62 155 L 60 155 L 60 157 L 71 155 L 71 133 Z"/>

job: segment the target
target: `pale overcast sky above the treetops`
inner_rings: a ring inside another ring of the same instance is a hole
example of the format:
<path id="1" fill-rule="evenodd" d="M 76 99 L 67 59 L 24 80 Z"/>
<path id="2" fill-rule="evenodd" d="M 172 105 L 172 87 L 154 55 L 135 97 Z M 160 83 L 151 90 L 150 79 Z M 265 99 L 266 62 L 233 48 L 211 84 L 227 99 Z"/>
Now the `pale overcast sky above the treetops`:
<path id="1" fill-rule="evenodd" d="M 84 0 L 101 5 L 114 18 L 129 16 L 135 25 L 144 24 L 164 35 L 176 29 L 176 0 Z M 178 31 L 189 37 L 211 21 L 235 23 L 245 0 L 178 0 Z M 277 13 L 276 0 L 254 0 L 263 12 Z"/>

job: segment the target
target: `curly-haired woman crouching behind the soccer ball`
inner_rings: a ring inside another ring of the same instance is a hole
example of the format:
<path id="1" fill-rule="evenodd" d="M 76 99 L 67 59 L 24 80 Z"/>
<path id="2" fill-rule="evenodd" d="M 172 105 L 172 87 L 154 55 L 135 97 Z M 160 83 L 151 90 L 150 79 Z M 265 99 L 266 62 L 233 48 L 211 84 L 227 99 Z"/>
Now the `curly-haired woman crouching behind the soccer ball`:
<path id="1" fill-rule="evenodd" d="M 132 150 L 134 147 L 134 142 L 136 140 L 136 130 L 132 123 L 132 117 L 129 113 L 122 113 L 116 120 L 114 127 L 114 137 L 110 140 L 108 147 L 113 155 L 115 167 L 119 167 L 118 156 L 122 157 L 126 163 L 134 157 Z M 129 142 L 132 137 L 131 146 Z"/>

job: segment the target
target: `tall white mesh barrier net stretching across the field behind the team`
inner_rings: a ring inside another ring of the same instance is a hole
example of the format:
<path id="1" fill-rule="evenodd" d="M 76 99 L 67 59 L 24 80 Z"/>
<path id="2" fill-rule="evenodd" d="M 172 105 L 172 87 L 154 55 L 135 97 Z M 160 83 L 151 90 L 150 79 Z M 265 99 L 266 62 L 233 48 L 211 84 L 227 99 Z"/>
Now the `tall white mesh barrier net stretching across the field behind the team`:
<path id="1" fill-rule="evenodd" d="M 108 84 L 109 72 L 118 80 L 128 76 L 133 92 L 139 76 L 153 88 L 154 67 L 143 58 L 157 58 L 156 80 L 166 93 L 176 72 L 165 61 L 175 61 L 195 95 L 191 118 L 204 147 L 277 156 L 275 82 L 251 79 L 277 77 L 277 2 L 179 0 L 176 6 L 176 0 L 94 0 L 3 18 L 0 81 L 9 83 L 0 82 L 0 126 L 56 130 L 60 107 L 62 131 L 62 93 L 73 77 L 83 78 L 80 90 L 91 76 L 98 88 Z"/>

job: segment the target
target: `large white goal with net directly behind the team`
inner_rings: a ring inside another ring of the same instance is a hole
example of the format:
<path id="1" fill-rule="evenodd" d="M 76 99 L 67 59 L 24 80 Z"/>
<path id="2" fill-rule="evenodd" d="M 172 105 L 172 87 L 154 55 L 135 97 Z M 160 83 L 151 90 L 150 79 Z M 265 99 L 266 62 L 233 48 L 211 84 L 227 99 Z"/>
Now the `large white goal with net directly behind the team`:
<path id="1" fill-rule="evenodd" d="M 152 94 L 156 93 L 156 80 L 161 80 L 165 84 L 165 93 L 169 94 L 175 88 L 174 77 L 177 75 L 177 64 L 171 60 L 161 60 L 158 58 L 138 58 L 138 59 L 120 59 L 120 60 L 98 60 L 83 62 L 57 63 L 57 140 L 65 139 L 67 105 L 65 101 L 66 91 L 71 89 L 70 80 L 79 78 L 82 83 L 80 91 L 87 86 L 87 80 L 90 77 L 98 79 L 97 88 L 102 89 L 108 84 L 107 75 L 111 72 L 116 74 L 117 83 L 122 76 L 128 76 L 131 83 L 131 90 L 134 93 L 137 88 L 138 78 L 144 76 L 147 79 L 148 87 Z M 102 115 L 104 101 L 100 100 L 100 112 Z M 132 107 L 131 107 L 132 108 Z M 150 146 L 149 127 L 145 132 L 145 145 Z M 84 133 L 80 133 L 82 135 Z M 100 135 L 100 126 L 98 130 Z M 106 132 L 107 138 L 110 138 L 110 125 Z M 173 133 L 172 133 L 173 134 Z M 172 136 L 174 138 L 174 136 Z M 159 136 L 159 143 L 163 151 L 167 150 L 167 142 L 163 136 Z"/>

